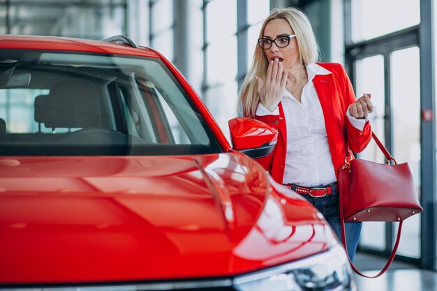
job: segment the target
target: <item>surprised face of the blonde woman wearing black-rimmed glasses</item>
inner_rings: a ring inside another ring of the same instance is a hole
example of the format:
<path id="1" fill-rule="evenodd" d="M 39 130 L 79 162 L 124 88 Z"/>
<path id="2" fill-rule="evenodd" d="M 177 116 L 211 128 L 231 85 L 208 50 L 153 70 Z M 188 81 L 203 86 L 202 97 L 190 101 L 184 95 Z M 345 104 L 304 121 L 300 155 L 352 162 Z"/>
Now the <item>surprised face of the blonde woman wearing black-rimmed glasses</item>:
<path id="1" fill-rule="evenodd" d="M 279 36 L 293 35 L 295 32 L 291 29 L 287 20 L 276 19 L 267 22 L 264 28 L 263 38 L 270 38 L 274 40 Z M 279 43 L 279 39 L 276 40 Z M 297 46 L 296 38 L 290 38 L 290 43 L 286 47 L 278 47 L 275 43 L 272 43 L 272 47 L 264 50 L 267 61 L 278 58 L 282 61 L 284 69 L 291 68 L 295 64 L 301 63 L 299 56 L 299 47 Z"/>

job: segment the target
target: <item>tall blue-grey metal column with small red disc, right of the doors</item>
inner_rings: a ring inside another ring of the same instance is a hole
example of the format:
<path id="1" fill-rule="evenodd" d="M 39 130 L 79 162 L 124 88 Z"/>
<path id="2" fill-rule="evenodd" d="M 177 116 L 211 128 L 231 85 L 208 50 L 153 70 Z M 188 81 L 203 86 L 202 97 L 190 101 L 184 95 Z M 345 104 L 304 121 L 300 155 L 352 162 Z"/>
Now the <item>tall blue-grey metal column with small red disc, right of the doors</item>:
<path id="1" fill-rule="evenodd" d="M 420 1 L 420 110 L 422 112 L 422 233 L 420 265 L 437 269 L 436 264 L 436 112 L 434 74 L 434 5 L 433 0 Z M 425 118 L 431 112 L 431 120 Z"/>

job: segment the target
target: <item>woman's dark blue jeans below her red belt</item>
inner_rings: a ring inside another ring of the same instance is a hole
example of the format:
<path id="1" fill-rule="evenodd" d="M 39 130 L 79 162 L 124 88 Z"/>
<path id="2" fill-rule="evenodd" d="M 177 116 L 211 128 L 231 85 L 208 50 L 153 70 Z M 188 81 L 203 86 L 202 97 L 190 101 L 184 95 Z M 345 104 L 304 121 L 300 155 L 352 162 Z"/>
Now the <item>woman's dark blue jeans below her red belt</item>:
<path id="1" fill-rule="evenodd" d="M 341 242 L 341 223 L 339 213 L 339 195 L 334 191 L 332 195 L 326 195 L 325 197 L 311 197 L 310 195 L 302 195 L 311 204 L 314 205 L 325 216 L 326 221 L 331 225 L 336 236 Z M 349 258 L 353 261 L 355 252 L 357 251 L 358 241 L 360 241 L 362 223 L 360 222 L 347 222 L 345 224 L 346 230 L 346 242 L 348 245 Z"/>

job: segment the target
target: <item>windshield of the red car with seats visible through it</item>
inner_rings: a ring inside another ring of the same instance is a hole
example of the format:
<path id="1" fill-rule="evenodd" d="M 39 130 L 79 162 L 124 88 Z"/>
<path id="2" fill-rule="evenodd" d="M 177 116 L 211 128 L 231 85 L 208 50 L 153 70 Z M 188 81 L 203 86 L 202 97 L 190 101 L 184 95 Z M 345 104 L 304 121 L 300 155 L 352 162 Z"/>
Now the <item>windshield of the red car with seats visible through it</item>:
<path id="1" fill-rule="evenodd" d="M 0 155 L 220 152 L 157 58 L 0 50 Z"/>

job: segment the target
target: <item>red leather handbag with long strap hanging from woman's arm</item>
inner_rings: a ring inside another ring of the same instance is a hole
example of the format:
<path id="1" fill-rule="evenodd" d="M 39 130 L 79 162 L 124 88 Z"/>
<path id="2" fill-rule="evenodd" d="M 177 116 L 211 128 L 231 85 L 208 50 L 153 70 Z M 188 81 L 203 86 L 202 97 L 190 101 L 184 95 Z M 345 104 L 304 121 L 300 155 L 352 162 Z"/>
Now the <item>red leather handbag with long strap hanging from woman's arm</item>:
<path id="1" fill-rule="evenodd" d="M 392 254 L 379 274 L 366 276 L 350 262 L 352 269 L 366 278 L 376 278 L 384 274 L 396 254 L 401 239 L 402 222 L 423 211 L 408 163 L 398 164 L 375 133 L 372 133 L 372 137 L 387 158 L 386 164 L 354 158 L 348 149 L 345 163 L 339 168 L 340 220 L 346 253 L 345 221 L 399 222 Z"/>

